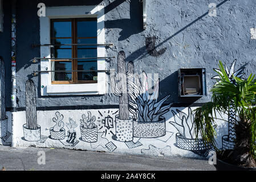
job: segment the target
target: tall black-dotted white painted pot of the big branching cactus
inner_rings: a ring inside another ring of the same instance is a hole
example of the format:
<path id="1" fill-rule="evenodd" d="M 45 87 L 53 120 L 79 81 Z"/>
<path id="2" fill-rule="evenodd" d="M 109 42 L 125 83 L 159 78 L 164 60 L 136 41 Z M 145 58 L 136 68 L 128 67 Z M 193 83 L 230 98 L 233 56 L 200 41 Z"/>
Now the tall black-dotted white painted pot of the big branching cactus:
<path id="1" fill-rule="evenodd" d="M 133 140 L 133 119 L 123 120 L 116 115 L 116 138 L 119 142 L 131 142 Z"/>

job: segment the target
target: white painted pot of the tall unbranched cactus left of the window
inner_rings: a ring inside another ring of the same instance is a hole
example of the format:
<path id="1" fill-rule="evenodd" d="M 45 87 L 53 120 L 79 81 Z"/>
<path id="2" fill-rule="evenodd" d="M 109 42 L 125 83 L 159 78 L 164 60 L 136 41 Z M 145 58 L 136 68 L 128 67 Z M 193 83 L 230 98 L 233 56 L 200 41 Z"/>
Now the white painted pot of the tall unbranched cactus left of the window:
<path id="1" fill-rule="evenodd" d="M 28 142 L 37 142 L 41 137 L 41 127 L 38 125 L 37 129 L 27 128 L 27 124 L 23 125 L 24 138 Z"/>

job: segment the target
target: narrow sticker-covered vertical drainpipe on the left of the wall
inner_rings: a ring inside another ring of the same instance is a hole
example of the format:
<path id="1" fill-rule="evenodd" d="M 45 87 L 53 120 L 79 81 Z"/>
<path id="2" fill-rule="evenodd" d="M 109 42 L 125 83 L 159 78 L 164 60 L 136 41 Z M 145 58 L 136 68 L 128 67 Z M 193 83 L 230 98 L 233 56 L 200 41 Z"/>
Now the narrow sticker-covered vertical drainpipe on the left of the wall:
<path id="1" fill-rule="evenodd" d="M 11 127 L 12 127 L 12 142 L 11 147 L 16 147 L 16 131 L 15 131 L 15 121 L 17 115 L 17 86 L 16 86 L 16 39 L 17 39 L 17 13 L 16 13 L 16 3 L 17 0 L 11 0 Z"/>

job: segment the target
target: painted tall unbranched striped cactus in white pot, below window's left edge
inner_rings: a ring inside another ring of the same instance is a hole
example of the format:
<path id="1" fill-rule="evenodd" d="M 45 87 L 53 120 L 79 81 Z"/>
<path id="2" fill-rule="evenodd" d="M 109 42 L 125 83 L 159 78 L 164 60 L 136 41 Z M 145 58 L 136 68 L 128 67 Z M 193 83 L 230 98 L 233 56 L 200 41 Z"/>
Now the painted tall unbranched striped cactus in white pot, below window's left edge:
<path id="1" fill-rule="evenodd" d="M 40 140 L 41 127 L 37 124 L 35 84 L 32 80 L 26 81 L 26 121 L 27 123 L 23 125 L 25 140 Z"/>

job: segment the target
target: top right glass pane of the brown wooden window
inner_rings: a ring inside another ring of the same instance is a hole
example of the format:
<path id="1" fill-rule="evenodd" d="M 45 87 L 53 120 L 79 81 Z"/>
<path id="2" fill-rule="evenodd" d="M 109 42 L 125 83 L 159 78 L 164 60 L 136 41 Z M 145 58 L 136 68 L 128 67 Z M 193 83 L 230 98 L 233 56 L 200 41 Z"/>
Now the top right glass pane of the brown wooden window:
<path id="1" fill-rule="evenodd" d="M 78 20 L 78 38 L 96 37 L 97 36 L 97 20 L 92 18 L 91 21 Z"/>

